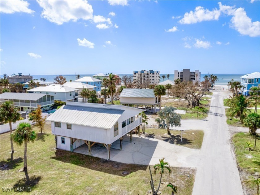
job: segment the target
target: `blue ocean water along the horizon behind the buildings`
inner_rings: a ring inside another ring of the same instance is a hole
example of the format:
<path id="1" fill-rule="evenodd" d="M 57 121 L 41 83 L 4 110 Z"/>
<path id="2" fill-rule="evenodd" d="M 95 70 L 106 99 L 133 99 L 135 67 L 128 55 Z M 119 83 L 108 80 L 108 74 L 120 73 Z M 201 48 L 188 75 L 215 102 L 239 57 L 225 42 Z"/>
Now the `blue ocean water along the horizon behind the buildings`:
<path id="1" fill-rule="evenodd" d="M 245 73 L 246 74 L 246 73 Z M 243 74 L 243 75 L 245 75 Z M 120 77 L 122 78 L 122 76 L 124 75 L 132 75 L 132 74 L 120 74 Z M 160 74 L 160 76 L 162 77 L 163 75 L 166 76 L 166 74 Z M 241 81 L 240 76 L 243 75 L 225 75 L 225 74 L 215 74 L 216 76 L 218 76 L 218 81 L 216 81 L 216 84 L 219 85 L 227 85 L 227 82 L 230 81 L 231 79 L 234 79 L 235 81 Z M 33 76 L 34 79 L 38 79 L 40 80 L 40 78 L 44 77 L 46 79 L 46 82 L 54 82 L 54 77 L 57 75 L 31 75 Z M 76 80 L 76 76 L 75 75 L 63 75 L 67 81 L 74 81 Z M 84 76 L 93 76 L 93 75 L 80 75 L 80 78 L 84 77 Z M 201 74 L 201 81 L 204 80 L 205 74 Z M 3 76 L 1 75 L 1 78 L 3 78 Z M 174 80 L 174 74 L 170 74 L 170 80 Z M 167 80 L 167 79 L 166 79 Z M 161 82 L 163 81 L 163 79 L 161 78 Z"/>

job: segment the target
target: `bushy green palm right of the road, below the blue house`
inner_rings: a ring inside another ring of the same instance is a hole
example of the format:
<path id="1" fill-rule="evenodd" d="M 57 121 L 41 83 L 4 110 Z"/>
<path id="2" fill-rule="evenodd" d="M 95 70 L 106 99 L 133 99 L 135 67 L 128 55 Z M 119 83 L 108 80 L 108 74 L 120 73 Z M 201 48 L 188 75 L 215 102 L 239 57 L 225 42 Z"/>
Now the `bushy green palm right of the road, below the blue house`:
<path id="1" fill-rule="evenodd" d="M 239 115 L 240 121 L 243 123 L 246 113 L 250 112 L 250 109 L 248 108 L 249 104 L 250 102 L 241 94 L 235 97 L 234 105 L 228 108 L 228 111 L 230 111 L 231 116 Z"/>

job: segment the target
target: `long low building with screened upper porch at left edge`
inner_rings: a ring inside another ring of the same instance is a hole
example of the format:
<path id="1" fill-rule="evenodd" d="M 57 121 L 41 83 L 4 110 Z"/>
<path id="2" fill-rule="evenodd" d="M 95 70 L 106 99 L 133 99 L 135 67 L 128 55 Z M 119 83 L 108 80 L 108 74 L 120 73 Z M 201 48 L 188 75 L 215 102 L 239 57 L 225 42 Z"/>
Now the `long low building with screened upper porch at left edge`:
<path id="1" fill-rule="evenodd" d="M 13 101 L 15 107 L 19 107 L 19 111 L 33 111 L 37 109 L 38 105 L 41 105 L 43 111 L 50 110 L 54 104 L 54 97 L 48 94 L 36 94 L 36 93 L 2 93 L 1 99 Z"/>

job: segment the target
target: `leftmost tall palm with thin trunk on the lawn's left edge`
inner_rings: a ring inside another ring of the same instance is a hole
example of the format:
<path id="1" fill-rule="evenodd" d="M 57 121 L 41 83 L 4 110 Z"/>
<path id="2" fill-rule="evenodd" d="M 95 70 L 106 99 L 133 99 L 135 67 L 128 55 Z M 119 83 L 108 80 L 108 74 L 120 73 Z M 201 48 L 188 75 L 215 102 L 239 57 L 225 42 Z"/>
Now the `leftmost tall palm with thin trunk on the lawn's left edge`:
<path id="1" fill-rule="evenodd" d="M 17 107 L 15 107 L 13 101 L 6 101 L 1 104 L 0 108 L 0 121 L 9 123 L 10 133 L 12 133 L 12 123 L 15 123 L 20 119 L 20 114 L 17 112 Z M 14 146 L 12 137 L 10 137 L 12 153 L 14 152 Z"/>

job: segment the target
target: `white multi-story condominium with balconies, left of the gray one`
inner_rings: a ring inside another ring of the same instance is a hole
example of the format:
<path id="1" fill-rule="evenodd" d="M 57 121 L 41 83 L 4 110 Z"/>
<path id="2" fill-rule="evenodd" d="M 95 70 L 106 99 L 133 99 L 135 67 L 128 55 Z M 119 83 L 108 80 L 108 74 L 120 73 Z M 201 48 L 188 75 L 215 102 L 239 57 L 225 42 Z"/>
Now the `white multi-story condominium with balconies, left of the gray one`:
<path id="1" fill-rule="evenodd" d="M 154 71 L 154 70 L 141 70 L 141 71 L 134 71 L 133 73 L 133 79 L 135 82 L 138 82 L 139 84 L 145 84 L 145 85 L 156 85 L 160 83 L 160 71 Z"/>

